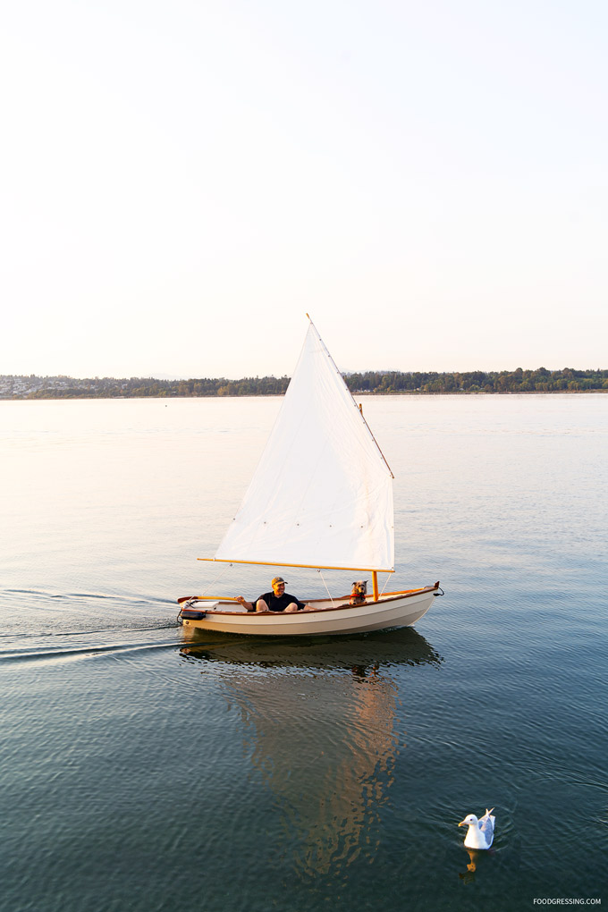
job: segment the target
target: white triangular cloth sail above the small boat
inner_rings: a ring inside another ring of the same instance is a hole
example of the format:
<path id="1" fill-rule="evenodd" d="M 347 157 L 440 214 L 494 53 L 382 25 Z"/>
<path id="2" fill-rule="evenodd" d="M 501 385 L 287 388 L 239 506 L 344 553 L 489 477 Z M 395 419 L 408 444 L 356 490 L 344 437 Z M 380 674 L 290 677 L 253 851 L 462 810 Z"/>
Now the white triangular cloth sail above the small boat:
<path id="1" fill-rule="evenodd" d="M 392 473 L 313 323 L 215 559 L 391 571 Z"/>

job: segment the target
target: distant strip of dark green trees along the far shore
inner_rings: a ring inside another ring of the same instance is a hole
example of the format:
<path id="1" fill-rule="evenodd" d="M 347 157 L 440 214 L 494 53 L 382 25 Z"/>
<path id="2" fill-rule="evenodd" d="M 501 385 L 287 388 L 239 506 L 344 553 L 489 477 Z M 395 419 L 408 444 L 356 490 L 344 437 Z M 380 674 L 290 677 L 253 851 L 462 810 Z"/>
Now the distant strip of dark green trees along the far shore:
<path id="1" fill-rule="evenodd" d="M 455 373 L 368 370 L 344 375 L 356 394 L 437 393 L 552 393 L 608 392 L 607 370 L 470 370 Z M 201 378 L 87 378 L 0 375 L 0 399 L 142 399 L 203 396 L 282 396 L 288 377 Z"/>

